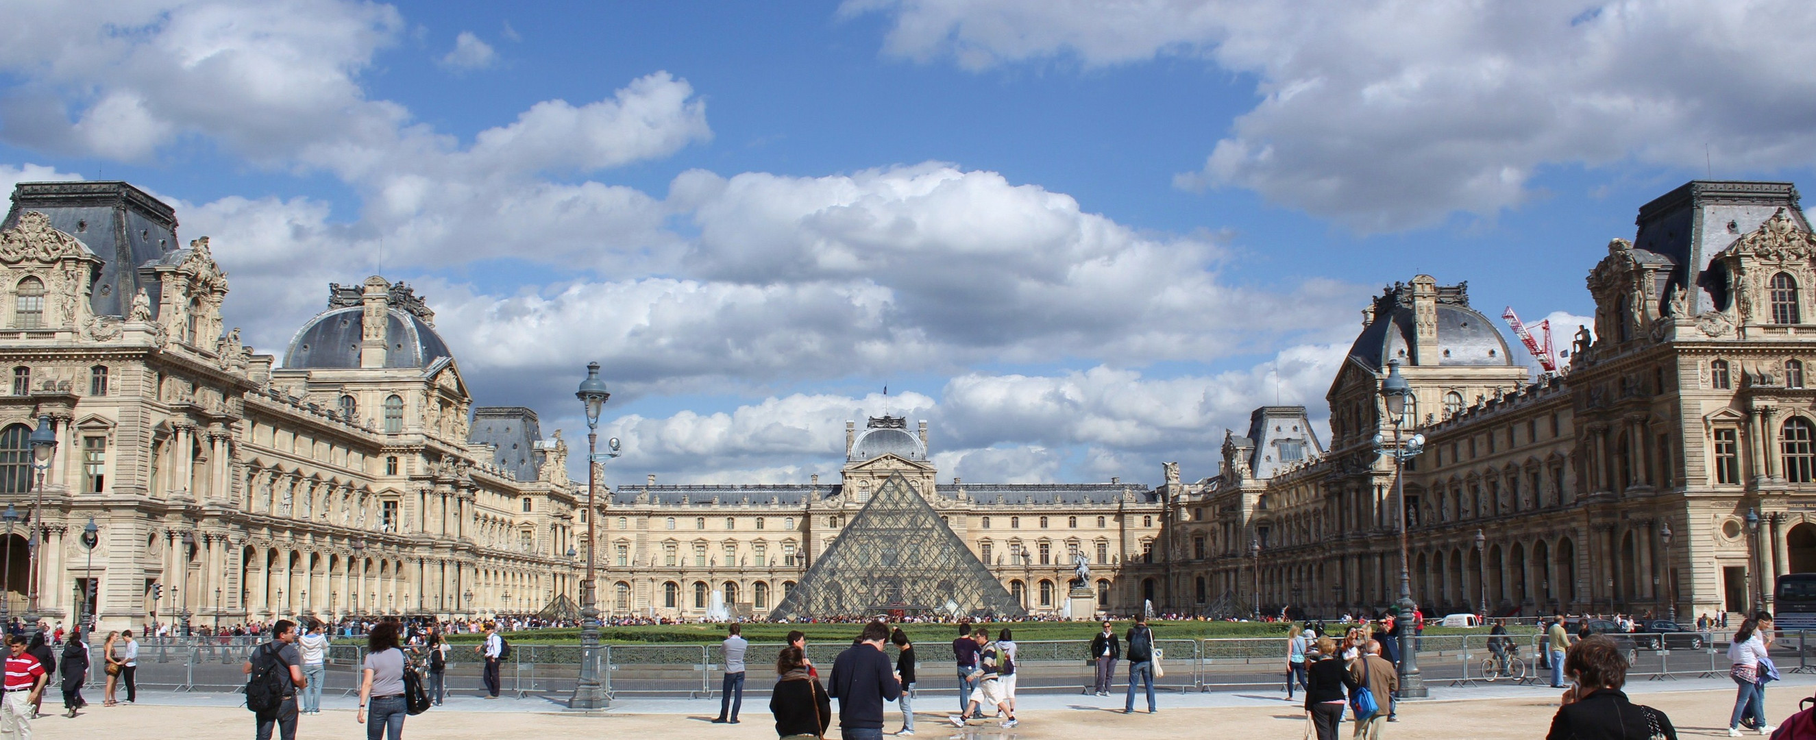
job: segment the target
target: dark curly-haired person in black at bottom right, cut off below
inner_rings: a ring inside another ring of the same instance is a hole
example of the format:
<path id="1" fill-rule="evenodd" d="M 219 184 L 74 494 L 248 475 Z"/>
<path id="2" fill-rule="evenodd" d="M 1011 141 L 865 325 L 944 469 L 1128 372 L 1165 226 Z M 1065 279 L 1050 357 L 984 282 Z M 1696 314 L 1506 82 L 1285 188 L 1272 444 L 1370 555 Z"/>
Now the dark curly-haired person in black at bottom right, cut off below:
<path id="1" fill-rule="evenodd" d="M 1627 684 L 1627 657 L 1614 640 L 1602 635 L 1585 638 L 1571 646 L 1564 662 L 1576 686 L 1564 693 L 1564 706 L 1551 716 L 1545 740 L 1678 740 L 1665 713 L 1633 704 L 1620 691 Z"/>

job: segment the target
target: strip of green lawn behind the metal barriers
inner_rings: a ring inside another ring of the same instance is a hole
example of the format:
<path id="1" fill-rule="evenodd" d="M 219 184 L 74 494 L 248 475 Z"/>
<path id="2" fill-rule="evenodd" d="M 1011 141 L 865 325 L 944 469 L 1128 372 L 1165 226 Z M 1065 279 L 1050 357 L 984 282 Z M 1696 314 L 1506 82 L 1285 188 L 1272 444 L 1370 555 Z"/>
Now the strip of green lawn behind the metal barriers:
<path id="1" fill-rule="evenodd" d="M 1013 629 L 1017 640 L 1090 640 L 1097 635 L 1099 622 L 1008 622 L 982 624 L 990 637 L 997 637 L 1002 628 Z M 1130 628 L 1128 620 L 1117 622 L 1117 635 Z M 1286 637 L 1286 622 L 1150 622 L 1153 637 L 1159 640 L 1193 638 L 1255 638 Z M 863 624 L 770 624 L 748 622 L 743 635 L 750 642 L 783 642 L 790 629 L 801 629 L 814 642 L 846 642 L 864 629 Z M 1327 629 L 1335 629 L 1329 628 Z M 913 642 L 950 642 L 959 628 L 953 624 L 903 624 L 903 631 Z M 1531 628 L 1509 628 L 1515 635 L 1525 635 Z M 1426 635 L 1485 635 L 1487 628 L 1426 628 Z M 528 629 L 505 633 L 512 644 L 547 646 L 577 644 L 579 629 Z M 454 635 L 452 644 L 476 644 L 483 635 Z M 607 644 L 717 644 L 725 638 L 725 624 L 650 624 L 632 628 L 599 628 L 599 640 Z"/>

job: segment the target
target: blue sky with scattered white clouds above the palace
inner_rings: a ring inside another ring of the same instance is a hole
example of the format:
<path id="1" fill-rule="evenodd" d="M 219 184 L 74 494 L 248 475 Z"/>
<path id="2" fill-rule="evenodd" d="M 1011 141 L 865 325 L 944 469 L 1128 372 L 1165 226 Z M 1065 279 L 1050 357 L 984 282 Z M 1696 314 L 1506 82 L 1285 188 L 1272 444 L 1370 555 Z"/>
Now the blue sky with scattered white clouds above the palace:
<path id="1" fill-rule="evenodd" d="M 1215 475 L 1258 404 L 1327 424 L 1384 285 L 1567 345 L 1642 203 L 1816 165 L 1809 2 L 0 13 L 0 187 L 173 203 L 260 352 L 407 281 L 545 435 L 599 361 L 610 484 L 835 475 L 881 414 L 943 479 Z"/>

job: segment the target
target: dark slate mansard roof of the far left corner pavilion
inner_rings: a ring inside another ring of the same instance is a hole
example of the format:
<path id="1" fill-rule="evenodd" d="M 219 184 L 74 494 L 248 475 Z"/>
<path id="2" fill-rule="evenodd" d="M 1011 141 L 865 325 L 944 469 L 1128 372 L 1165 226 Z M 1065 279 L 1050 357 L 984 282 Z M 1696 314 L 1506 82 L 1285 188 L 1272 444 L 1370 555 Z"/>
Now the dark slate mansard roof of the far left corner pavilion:
<path id="1" fill-rule="evenodd" d="M 89 305 L 100 316 L 125 316 L 140 287 L 156 310 L 163 287 L 140 268 L 178 250 L 176 209 L 123 181 L 18 183 L 0 229 L 13 229 L 25 210 L 82 239 L 102 258 L 102 278 Z"/>

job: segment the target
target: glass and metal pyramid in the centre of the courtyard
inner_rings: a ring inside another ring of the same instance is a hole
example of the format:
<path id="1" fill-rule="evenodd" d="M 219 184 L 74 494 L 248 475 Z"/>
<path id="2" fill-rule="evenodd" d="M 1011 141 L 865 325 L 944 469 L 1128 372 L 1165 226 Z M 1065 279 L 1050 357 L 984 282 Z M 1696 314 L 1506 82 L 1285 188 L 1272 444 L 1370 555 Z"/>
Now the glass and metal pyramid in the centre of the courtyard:
<path id="1" fill-rule="evenodd" d="M 1028 615 L 901 475 L 877 488 L 770 618 L 893 611 L 973 618 Z"/>

